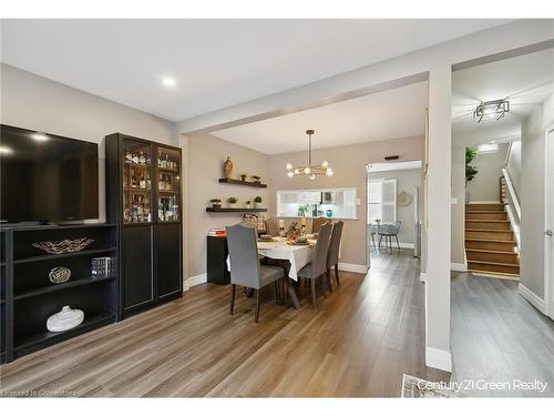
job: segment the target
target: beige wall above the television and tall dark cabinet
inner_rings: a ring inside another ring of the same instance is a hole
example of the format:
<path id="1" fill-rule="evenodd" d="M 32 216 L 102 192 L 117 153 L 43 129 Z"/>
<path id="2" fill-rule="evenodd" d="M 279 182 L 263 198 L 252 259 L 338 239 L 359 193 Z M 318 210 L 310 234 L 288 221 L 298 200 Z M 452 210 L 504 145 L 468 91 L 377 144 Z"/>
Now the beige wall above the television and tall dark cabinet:
<path id="1" fill-rule="evenodd" d="M 1 65 L 1 122 L 99 143 L 99 215 L 105 220 L 105 135 L 126 133 L 175 144 L 173 123 L 7 64 Z"/>

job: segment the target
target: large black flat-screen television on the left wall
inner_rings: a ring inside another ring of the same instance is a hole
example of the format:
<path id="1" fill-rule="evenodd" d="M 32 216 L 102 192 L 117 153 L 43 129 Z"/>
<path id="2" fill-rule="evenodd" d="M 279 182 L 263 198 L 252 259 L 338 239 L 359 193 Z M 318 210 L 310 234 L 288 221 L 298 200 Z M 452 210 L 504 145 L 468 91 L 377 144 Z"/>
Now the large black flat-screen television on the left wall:
<path id="1" fill-rule="evenodd" d="M 99 217 L 96 143 L 0 125 L 0 220 Z"/>

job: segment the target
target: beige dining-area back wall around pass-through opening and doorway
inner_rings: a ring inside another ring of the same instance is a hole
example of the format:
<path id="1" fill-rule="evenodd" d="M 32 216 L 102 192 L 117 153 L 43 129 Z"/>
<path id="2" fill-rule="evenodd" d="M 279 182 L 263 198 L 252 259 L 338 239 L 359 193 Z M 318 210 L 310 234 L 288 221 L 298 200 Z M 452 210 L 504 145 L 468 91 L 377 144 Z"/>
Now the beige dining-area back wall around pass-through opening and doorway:
<path id="1" fill-rule="evenodd" d="M 335 175 L 332 177 L 318 177 L 314 181 L 308 177 L 290 179 L 285 170 L 287 162 L 305 163 L 306 152 L 273 155 L 270 158 L 271 206 L 275 206 L 274 191 L 356 187 L 357 197 L 360 200 L 360 204 L 357 206 L 358 220 L 345 221 L 340 262 L 366 265 L 366 165 L 383 162 L 386 155 L 392 154 L 398 154 L 401 161 L 423 160 L 423 136 L 316 150 L 314 152 L 315 160 L 329 161 Z"/>

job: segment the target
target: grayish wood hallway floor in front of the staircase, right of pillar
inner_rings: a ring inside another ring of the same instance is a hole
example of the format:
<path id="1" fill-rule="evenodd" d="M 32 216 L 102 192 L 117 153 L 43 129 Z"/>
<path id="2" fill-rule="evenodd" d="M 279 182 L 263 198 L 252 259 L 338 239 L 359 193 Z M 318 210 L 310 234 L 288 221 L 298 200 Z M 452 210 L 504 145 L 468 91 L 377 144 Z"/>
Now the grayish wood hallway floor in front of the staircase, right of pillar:
<path id="1" fill-rule="evenodd" d="M 517 282 L 453 273 L 452 381 L 547 382 L 544 393 L 499 389 L 469 396 L 554 397 L 554 322 L 517 294 Z"/>

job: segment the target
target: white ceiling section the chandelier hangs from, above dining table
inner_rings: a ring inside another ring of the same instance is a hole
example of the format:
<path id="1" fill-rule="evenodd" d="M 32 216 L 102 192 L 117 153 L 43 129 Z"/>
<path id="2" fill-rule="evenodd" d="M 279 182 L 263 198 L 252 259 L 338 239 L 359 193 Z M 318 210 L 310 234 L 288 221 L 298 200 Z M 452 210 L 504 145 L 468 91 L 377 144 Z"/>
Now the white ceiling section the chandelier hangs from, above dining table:
<path id="1" fill-rule="evenodd" d="M 212 134 L 266 154 L 306 150 L 307 129 L 315 149 L 406 138 L 423 134 L 428 97 L 428 82 L 418 82 Z"/>

